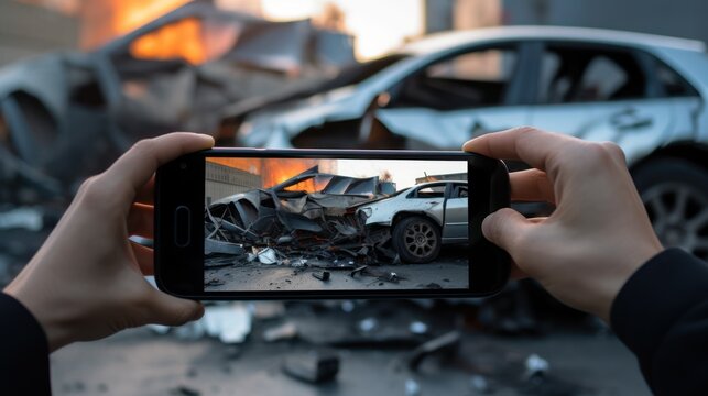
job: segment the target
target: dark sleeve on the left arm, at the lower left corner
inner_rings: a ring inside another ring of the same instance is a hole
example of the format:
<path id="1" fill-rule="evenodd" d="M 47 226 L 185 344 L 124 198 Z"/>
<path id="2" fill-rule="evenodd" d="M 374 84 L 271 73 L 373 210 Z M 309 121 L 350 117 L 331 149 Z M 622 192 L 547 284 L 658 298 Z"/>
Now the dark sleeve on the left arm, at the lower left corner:
<path id="1" fill-rule="evenodd" d="M 0 393 L 50 395 L 50 348 L 40 322 L 3 293 L 0 317 Z"/>

